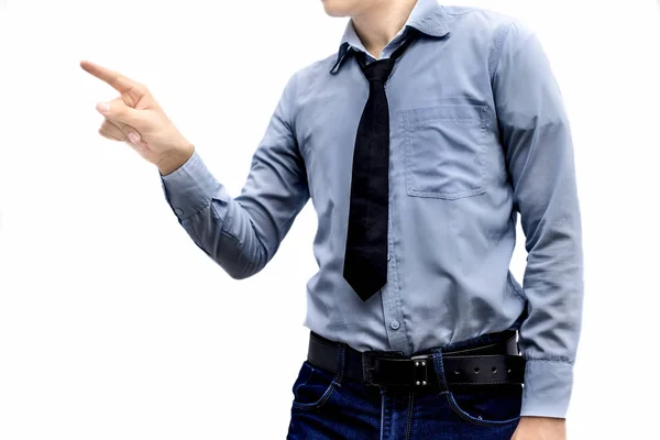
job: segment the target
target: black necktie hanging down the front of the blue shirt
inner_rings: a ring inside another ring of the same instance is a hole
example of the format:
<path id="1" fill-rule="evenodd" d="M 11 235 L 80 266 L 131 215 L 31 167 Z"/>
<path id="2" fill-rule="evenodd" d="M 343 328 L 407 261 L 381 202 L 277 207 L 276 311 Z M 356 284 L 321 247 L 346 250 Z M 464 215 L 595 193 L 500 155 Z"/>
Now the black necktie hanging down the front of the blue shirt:
<path id="1" fill-rule="evenodd" d="M 376 59 L 369 65 L 364 52 L 355 54 L 370 89 L 353 152 L 343 276 L 363 301 L 387 282 L 389 109 L 385 82 L 396 58 L 416 36 L 416 32 L 410 32 L 389 58 Z"/>

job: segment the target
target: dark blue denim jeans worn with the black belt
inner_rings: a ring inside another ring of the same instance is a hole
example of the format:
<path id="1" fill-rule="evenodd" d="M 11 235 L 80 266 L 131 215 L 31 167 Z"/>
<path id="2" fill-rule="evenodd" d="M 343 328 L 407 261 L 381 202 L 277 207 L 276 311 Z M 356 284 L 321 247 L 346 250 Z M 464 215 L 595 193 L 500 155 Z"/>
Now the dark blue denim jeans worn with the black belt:
<path id="1" fill-rule="evenodd" d="M 341 373 L 302 363 L 294 383 L 288 440 L 509 440 L 520 419 L 522 386 L 447 385 L 442 353 L 499 339 L 491 333 L 416 354 L 431 354 L 439 387 L 366 386 Z M 451 374 L 451 372 L 447 372 Z"/>

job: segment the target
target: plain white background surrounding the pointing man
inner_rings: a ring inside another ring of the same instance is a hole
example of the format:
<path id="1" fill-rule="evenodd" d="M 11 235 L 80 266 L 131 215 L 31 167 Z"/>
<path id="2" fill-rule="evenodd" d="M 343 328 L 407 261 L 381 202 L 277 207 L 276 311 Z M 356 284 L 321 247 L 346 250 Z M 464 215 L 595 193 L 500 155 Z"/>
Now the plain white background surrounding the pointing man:
<path id="1" fill-rule="evenodd" d="M 658 438 L 660 8 L 453 4 L 531 25 L 570 113 L 586 296 L 569 436 Z M 286 80 L 337 51 L 345 20 L 310 0 L 0 1 L 0 439 L 285 437 L 311 204 L 233 280 L 157 170 L 97 133 L 116 92 L 78 63 L 145 82 L 235 196 Z"/>

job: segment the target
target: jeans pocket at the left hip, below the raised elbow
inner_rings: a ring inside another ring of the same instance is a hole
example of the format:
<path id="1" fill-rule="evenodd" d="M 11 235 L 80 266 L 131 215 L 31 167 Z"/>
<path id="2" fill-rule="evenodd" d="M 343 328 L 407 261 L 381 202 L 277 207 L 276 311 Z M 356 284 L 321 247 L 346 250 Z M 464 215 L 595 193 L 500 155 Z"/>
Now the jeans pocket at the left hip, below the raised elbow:
<path id="1" fill-rule="evenodd" d="M 294 408 L 312 410 L 321 406 L 338 386 L 339 374 L 330 373 L 305 361 L 294 383 Z"/>

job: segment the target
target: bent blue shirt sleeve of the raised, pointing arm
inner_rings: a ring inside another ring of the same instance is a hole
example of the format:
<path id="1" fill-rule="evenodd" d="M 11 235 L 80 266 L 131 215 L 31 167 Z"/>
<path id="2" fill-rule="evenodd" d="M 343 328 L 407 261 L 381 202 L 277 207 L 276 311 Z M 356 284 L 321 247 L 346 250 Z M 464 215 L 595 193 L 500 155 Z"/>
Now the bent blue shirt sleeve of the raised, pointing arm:
<path id="1" fill-rule="evenodd" d="M 294 134 L 295 77 L 283 90 L 240 195 L 228 194 L 197 151 L 182 167 L 161 175 L 165 198 L 179 223 L 235 279 L 266 265 L 309 199 Z"/>

